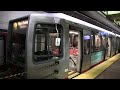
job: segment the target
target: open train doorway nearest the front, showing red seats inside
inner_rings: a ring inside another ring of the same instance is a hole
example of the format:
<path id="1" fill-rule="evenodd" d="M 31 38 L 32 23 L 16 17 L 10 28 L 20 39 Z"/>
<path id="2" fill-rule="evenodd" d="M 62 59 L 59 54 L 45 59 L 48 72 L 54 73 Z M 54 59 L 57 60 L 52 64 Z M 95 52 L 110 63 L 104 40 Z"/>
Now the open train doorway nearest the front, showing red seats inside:
<path id="1" fill-rule="evenodd" d="M 80 71 L 80 59 L 81 59 L 81 43 L 80 32 L 69 31 L 69 72 Z"/>

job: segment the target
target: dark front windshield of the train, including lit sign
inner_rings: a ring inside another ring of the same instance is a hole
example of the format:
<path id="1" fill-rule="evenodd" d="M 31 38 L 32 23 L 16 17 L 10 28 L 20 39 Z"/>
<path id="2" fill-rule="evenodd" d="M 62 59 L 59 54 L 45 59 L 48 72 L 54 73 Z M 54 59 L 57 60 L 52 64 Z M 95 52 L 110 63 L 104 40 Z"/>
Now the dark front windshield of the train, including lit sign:
<path id="1" fill-rule="evenodd" d="M 15 22 L 12 27 L 12 61 L 22 65 L 25 62 L 25 41 L 27 32 L 27 21 Z"/>

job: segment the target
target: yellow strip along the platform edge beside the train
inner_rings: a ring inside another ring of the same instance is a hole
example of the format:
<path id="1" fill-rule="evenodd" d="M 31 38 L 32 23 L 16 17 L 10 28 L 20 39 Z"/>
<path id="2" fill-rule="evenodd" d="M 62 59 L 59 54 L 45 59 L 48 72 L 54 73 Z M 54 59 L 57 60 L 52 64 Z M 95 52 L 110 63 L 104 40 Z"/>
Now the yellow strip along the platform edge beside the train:
<path id="1" fill-rule="evenodd" d="M 93 67 L 89 71 L 80 74 L 79 76 L 73 78 L 73 79 L 94 79 L 97 77 L 100 73 L 102 73 L 105 69 L 107 69 L 110 65 L 112 65 L 115 61 L 117 61 L 120 58 L 120 54 L 117 54 L 113 56 L 112 58 L 102 62 L 101 64 Z"/>

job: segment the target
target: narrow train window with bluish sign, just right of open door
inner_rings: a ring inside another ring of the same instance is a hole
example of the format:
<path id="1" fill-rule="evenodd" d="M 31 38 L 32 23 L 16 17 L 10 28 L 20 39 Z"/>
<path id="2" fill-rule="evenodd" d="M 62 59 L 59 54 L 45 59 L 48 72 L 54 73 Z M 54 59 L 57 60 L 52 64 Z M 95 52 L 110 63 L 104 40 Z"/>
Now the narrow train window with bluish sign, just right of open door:
<path id="1" fill-rule="evenodd" d="M 84 54 L 90 54 L 90 35 L 84 35 Z"/>

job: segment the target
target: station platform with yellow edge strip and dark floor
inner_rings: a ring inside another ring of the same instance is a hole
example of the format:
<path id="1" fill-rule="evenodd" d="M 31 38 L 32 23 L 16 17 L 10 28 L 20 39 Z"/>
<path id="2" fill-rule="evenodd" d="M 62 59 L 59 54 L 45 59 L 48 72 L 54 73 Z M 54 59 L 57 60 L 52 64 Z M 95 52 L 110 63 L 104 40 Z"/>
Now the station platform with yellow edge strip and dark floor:
<path id="1" fill-rule="evenodd" d="M 70 72 L 71 73 L 71 72 Z M 69 74 L 70 74 L 69 73 Z M 76 72 L 69 79 L 120 79 L 120 53 L 82 74 Z"/>

